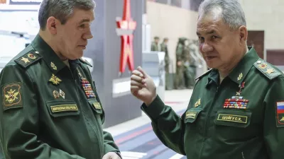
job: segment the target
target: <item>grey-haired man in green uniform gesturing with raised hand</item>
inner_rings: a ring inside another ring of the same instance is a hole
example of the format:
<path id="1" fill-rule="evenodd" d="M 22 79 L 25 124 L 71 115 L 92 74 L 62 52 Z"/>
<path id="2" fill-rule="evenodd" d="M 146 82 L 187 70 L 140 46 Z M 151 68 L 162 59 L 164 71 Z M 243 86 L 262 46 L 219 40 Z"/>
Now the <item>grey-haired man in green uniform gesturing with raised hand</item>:
<path id="1" fill-rule="evenodd" d="M 197 21 L 200 52 L 212 68 L 197 78 L 187 110 L 175 114 L 140 67 L 131 93 L 165 146 L 188 159 L 283 159 L 284 76 L 247 47 L 237 0 L 205 0 Z"/>

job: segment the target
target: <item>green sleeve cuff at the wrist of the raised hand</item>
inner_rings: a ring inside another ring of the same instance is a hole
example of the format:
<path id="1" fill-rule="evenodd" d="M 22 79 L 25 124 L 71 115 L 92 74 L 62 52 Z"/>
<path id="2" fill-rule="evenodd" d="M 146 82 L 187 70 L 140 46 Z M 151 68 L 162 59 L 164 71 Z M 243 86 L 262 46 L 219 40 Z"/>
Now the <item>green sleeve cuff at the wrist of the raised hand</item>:
<path id="1" fill-rule="evenodd" d="M 164 108 L 165 104 L 158 95 L 148 107 L 145 103 L 141 105 L 141 110 L 145 112 L 151 119 L 157 119 L 163 112 Z"/>

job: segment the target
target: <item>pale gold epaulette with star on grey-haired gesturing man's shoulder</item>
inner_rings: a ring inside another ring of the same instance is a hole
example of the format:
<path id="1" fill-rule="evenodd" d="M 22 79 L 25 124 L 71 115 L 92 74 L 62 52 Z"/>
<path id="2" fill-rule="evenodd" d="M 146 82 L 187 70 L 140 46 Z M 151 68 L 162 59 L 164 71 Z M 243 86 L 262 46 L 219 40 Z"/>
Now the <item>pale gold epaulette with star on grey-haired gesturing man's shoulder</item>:
<path id="1" fill-rule="evenodd" d="M 271 64 L 264 61 L 263 59 L 258 59 L 253 66 L 256 67 L 261 73 L 263 73 L 267 78 L 273 79 L 280 76 L 282 73 L 277 69 L 274 69 Z"/>

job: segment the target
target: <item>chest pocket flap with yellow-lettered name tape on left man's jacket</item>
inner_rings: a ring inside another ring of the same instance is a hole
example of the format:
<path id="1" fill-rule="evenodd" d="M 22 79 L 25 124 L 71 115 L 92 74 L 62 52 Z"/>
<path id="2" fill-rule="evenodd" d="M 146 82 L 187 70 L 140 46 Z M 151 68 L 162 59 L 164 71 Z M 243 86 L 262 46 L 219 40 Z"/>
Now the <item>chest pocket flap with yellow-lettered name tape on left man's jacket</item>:
<path id="1" fill-rule="evenodd" d="M 79 106 L 74 101 L 46 102 L 48 112 L 53 117 L 77 116 L 80 114 Z"/>

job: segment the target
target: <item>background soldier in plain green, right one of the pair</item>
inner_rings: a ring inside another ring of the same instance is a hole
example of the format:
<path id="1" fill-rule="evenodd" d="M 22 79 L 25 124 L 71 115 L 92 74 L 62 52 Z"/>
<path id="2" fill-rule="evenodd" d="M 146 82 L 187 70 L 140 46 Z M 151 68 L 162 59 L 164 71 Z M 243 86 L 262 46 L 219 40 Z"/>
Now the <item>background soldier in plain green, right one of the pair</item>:
<path id="1" fill-rule="evenodd" d="M 165 52 L 165 90 L 171 90 L 170 85 L 170 56 L 168 54 L 168 38 L 165 37 L 163 42 L 160 44 L 160 51 Z"/>

